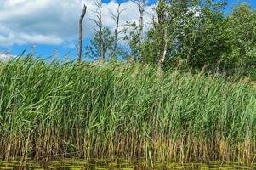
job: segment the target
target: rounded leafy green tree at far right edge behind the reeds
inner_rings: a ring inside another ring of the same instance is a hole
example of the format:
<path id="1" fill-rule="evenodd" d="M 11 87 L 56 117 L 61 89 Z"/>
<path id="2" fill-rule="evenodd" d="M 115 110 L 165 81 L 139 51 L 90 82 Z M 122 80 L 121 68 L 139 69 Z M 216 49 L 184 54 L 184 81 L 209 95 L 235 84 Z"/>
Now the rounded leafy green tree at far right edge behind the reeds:
<path id="1" fill-rule="evenodd" d="M 247 3 L 233 8 L 227 20 L 230 51 L 223 60 L 231 71 L 245 74 L 255 72 L 256 67 L 256 11 Z"/>

